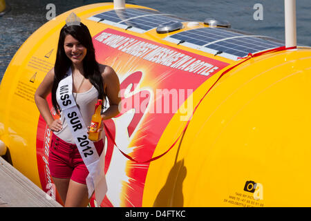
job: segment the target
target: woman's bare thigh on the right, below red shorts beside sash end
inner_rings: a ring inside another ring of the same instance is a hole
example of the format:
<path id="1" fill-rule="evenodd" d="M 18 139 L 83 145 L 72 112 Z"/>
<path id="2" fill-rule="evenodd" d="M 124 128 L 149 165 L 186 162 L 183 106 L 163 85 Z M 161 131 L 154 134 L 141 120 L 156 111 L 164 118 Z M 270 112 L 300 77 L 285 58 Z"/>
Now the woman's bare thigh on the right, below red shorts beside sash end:
<path id="1" fill-rule="evenodd" d="M 88 202 L 88 188 L 86 184 L 70 180 L 65 207 L 86 207 Z"/>

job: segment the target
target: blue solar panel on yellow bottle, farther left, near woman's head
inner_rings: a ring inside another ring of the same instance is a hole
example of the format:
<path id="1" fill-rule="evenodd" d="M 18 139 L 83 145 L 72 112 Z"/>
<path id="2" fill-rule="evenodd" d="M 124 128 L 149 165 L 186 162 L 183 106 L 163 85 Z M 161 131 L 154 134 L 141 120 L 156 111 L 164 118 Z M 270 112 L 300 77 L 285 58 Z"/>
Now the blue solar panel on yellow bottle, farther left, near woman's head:
<path id="1" fill-rule="evenodd" d="M 160 14 L 158 11 L 142 8 L 110 10 L 93 15 L 88 19 L 140 33 L 156 28 L 161 23 L 166 23 L 168 21 L 184 21 L 183 19 L 174 17 L 173 15 Z"/>

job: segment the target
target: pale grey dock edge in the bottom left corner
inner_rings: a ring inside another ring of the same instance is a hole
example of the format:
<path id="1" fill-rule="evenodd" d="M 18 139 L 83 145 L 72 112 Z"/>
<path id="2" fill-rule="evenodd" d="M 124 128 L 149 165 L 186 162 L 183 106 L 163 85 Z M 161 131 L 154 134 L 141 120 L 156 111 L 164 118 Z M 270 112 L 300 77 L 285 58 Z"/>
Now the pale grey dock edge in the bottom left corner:
<path id="1" fill-rule="evenodd" d="M 0 207 L 60 207 L 46 193 L 0 157 Z"/>

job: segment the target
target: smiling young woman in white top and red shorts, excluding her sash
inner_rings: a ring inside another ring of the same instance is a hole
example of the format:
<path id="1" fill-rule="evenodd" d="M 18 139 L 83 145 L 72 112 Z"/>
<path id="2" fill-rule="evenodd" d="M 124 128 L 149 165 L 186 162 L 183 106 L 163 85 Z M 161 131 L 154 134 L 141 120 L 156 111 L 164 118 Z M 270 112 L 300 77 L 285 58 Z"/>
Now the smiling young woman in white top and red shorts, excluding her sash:
<path id="1" fill-rule="evenodd" d="M 102 119 L 110 119 L 119 113 L 119 79 L 113 68 L 98 64 L 95 60 L 91 34 L 83 23 L 67 23 L 60 31 L 55 66 L 37 88 L 35 102 L 46 124 L 53 131 L 49 167 L 64 206 L 87 206 L 88 169 L 77 150 L 66 116 L 57 102 L 59 81 L 69 70 L 73 79 L 73 97 L 86 126 L 91 123 L 97 99 L 105 101 L 107 97 L 109 100 L 109 108 L 102 114 Z M 50 113 L 46 101 L 49 93 L 52 93 L 53 107 L 60 114 L 60 119 L 54 119 Z M 94 145 L 100 155 L 104 147 L 101 136 Z"/>

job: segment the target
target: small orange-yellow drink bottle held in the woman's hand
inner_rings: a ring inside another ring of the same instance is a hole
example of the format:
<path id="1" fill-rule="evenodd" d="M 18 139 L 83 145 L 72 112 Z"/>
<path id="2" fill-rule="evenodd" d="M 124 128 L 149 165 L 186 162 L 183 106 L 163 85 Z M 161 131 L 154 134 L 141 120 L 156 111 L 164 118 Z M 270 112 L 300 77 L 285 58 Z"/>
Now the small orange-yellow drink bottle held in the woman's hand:
<path id="1" fill-rule="evenodd" d="M 102 111 L 102 99 L 98 99 L 97 104 L 95 105 L 95 113 L 93 114 L 91 119 L 90 131 L 88 133 L 89 140 L 93 141 L 98 140 L 98 136 L 100 135 L 98 129 L 102 124 L 102 115 L 100 115 L 101 111 Z"/>

